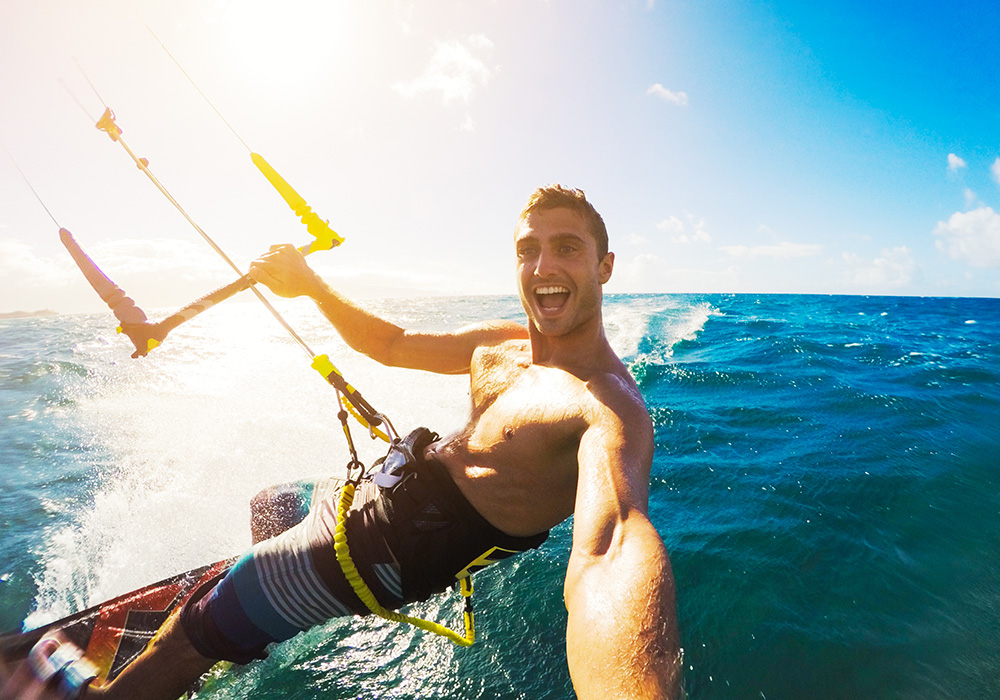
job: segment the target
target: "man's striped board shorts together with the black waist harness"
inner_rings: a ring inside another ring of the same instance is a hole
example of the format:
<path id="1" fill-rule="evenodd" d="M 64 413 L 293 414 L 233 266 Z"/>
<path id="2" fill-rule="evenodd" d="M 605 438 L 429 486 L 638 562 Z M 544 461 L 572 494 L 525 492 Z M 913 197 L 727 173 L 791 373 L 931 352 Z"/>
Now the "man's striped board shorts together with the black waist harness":
<path id="1" fill-rule="evenodd" d="M 315 486 L 315 505 L 297 525 L 258 542 L 220 578 L 198 590 L 181 625 L 198 653 L 247 663 L 334 617 L 368 615 L 334 551 L 339 487 Z M 421 461 L 391 490 L 362 481 L 347 514 L 347 542 L 358 571 L 390 610 L 444 591 L 472 571 L 545 541 L 513 537 L 487 522 L 445 467 Z"/>

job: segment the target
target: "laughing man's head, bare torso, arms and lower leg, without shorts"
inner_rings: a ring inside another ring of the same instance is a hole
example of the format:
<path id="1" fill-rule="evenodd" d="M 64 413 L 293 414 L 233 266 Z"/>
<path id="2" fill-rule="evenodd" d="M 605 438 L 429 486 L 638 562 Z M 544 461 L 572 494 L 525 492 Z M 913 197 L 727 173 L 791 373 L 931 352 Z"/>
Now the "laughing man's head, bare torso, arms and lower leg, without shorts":
<path id="1" fill-rule="evenodd" d="M 614 266 L 604 223 L 582 192 L 543 188 L 521 213 L 515 248 L 527 327 L 399 328 L 333 291 L 289 245 L 272 248 L 250 274 L 281 296 L 312 298 L 352 348 L 382 364 L 469 373 L 468 424 L 423 457 L 443 467 L 497 537 L 537 546 L 532 538 L 575 513 L 564 598 L 578 697 L 674 698 L 673 575 L 647 515 L 653 429 L 604 334 L 602 285 Z M 174 700 L 220 657 L 195 648 L 214 643 L 208 627 L 175 619 L 114 683 L 84 697 Z"/>

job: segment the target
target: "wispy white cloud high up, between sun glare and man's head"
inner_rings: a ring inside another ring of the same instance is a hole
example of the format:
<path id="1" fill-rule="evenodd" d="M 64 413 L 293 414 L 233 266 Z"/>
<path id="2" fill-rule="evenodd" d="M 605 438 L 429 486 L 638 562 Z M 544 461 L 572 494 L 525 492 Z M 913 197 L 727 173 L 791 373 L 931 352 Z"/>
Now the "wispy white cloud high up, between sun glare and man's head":
<path id="1" fill-rule="evenodd" d="M 464 41 L 435 42 L 434 54 L 424 72 L 394 87 L 404 97 L 440 91 L 445 103 L 468 104 L 476 89 L 485 87 L 499 70 L 487 66 L 483 58 L 492 49 L 493 42 L 482 34 Z"/>

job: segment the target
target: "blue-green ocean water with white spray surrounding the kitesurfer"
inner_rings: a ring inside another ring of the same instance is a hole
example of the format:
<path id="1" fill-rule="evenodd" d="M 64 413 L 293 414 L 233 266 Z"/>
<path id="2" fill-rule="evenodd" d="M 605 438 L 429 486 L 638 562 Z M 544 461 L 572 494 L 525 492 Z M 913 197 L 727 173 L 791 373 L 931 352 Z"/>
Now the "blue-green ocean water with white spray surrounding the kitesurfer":
<path id="1" fill-rule="evenodd" d="M 421 328 L 520 317 L 511 297 L 374 305 Z M 463 422 L 465 378 L 383 368 L 281 308 L 400 431 Z M 605 323 L 656 428 L 690 698 L 1000 697 L 1000 300 L 623 295 Z M 254 493 L 346 463 L 332 390 L 257 306 L 142 360 L 113 325 L 0 321 L 4 630 L 240 552 Z M 333 621 L 197 697 L 572 697 L 570 534 L 477 576 L 471 649 Z"/>

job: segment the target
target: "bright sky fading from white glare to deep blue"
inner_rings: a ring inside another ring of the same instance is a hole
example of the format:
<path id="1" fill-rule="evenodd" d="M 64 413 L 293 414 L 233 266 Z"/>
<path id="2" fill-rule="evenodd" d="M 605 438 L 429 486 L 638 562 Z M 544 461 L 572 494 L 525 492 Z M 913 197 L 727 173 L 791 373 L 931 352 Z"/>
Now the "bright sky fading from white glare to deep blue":
<path id="1" fill-rule="evenodd" d="M 234 278 L 105 105 L 241 269 L 310 239 L 261 154 L 350 296 L 513 294 L 561 183 L 608 293 L 998 297 L 998 30 L 993 0 L 0 0 L 0 311 L 103 308 L 60 226 L 143 308 Z"/>

